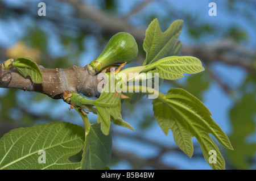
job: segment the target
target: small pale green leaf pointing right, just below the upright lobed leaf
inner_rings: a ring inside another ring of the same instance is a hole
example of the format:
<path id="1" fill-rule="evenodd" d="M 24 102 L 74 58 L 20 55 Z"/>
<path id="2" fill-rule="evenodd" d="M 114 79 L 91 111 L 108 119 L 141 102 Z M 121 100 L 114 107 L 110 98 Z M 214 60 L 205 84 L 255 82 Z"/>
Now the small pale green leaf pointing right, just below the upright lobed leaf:
<path id="1" fill-rule="evenodd" d="M 201 61 L 191 56 L 171 56 L 162 58 L 147 65 L 143 71 L 152 69 L 152 72 L 159 73 L 159 78 L 175 80 L 184 77 L 183 74 L 195 74 L 203 71 Z"/>

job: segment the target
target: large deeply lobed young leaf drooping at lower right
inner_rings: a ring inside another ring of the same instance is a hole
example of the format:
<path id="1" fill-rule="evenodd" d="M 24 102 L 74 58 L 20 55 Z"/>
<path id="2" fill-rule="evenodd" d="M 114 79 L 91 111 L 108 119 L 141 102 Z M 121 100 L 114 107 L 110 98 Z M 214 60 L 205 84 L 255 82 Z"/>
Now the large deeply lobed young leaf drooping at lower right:
<path id="1" fill-rule="evenodd" d="M 213 169 L 225 169 L 220 150 L 209 136 L 211 133 L 220 144 L 233 149 L 229 138 L 213 121 L 210 111 L 195 96 L 183 89 L 170 89 L 166 95 L 154 99 L 153 110 L 156 121 L 165 134 L 171 129 L 174 140 L 189 157 L 193 154 L 191 137 L 199 141 L 205 160 Z M 216 163 L 209 162 L 209 151 L 216 151 Z"/>

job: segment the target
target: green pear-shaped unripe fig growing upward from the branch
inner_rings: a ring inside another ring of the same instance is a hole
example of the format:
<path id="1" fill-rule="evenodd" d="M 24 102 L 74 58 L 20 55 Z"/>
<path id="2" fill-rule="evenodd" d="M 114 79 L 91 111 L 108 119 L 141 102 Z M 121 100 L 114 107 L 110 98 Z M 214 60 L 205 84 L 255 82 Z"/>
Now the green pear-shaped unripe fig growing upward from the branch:
<path id="1" fill-rule="evenodd" d="M 129 64 L 138 54 L 138 45 L 132 35 L 126 32 L 116 33 L 109 40 L 100 56 L 90 62 L 88 68 L 93 73 L 113 64 Z"/>

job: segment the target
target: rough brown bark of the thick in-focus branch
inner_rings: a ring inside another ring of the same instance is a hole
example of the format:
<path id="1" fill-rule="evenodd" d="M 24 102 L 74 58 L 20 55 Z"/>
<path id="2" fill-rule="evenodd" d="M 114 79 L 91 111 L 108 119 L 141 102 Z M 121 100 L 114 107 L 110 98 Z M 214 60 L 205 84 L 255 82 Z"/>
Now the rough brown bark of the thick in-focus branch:
<path id="1" fill-rule="evenodd" d="M 15 68 L 0 69 L 0 88 L 21 89 L 46 94 L 52 99 L 61 99 L 65 91 L 78 92 L 88 97 L 100 95 L 97 85 L 101 82 L 97 75 L 88 71 L 87 66 L 72 66 L 68 69 L 46 69 L 40 66 L 43 82 L 33 83 L 30 77 L 24 78 Z"/>

